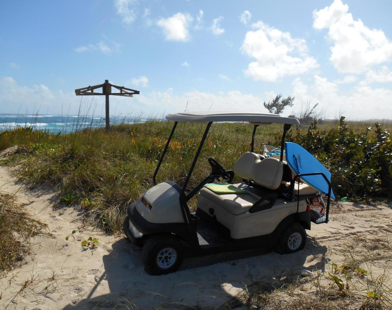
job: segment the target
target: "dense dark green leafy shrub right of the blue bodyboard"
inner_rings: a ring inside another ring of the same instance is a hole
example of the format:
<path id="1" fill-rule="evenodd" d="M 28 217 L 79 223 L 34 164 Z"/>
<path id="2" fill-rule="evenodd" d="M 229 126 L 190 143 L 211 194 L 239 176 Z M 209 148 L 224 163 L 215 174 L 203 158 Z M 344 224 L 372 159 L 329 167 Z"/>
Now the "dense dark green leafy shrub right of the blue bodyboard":
<path id="1" fill-rule="evenodd" d="M 299 128 L 287 134 L 287 141 L 296 142 L 312 153 L 332 173 L 334 192 L 351 198 L 391 197 L 392 138 L 380 124 L 364 132 L 349 130 L 345 117 L 330 130 L 318 130 L 312 123 L 307 133 Z M 280 134 L 269 141 L 278 145 Z"/>

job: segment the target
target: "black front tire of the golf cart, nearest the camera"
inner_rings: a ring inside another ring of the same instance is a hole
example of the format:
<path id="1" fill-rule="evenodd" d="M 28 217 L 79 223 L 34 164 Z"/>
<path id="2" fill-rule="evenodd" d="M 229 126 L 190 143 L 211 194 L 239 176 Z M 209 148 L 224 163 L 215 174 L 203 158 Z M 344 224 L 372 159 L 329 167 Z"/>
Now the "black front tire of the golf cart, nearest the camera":
<path id="1" fill-rule="evenodd" d="M 173 258 L 174 254 L 176 255 L 175 259 Z M 153 276 L 176 271 L 183 261 L 183 255 L 184 250 L 181 243 L 172 236 L 153 236 L 149 238 L 145 242 L 142 252 L 144 268 L 148 274 Z M 161 265 L 158 264 L 158 256 L 162 258 Z M 167 266 L 162 267 L 165 262 Z"/>

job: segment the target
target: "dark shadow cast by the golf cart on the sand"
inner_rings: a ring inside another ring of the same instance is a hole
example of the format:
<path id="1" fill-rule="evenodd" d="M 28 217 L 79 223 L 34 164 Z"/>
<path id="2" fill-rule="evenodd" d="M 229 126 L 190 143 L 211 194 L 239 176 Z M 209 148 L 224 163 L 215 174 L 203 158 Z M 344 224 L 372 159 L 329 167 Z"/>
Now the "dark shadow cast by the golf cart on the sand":
<path id="1" fill-rule="evenodd" d="M 187 258 L 173 274 L 150 276 L 143 270 L 140 248 L 125 238 L 112 248 L 103 256 L 104 271 L 95 276 L 96 284 L 89 294 L 65 309 L 112 309 L 116 305 L 116 309 L 219 308 L 238 288 L 258 279 L 272 281 L 285 274 L 295 277 L 303 269 L 324 271 L 327 252 L 308 236 L 305 249 L 294 254 L 247 250 Z"/>

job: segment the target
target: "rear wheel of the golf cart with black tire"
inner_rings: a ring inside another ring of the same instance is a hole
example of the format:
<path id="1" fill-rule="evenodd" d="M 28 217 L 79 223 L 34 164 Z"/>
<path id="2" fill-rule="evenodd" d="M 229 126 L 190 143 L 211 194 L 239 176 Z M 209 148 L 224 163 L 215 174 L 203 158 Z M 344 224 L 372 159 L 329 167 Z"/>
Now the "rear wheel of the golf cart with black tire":
<path id="1" fill-rule="evenodd" d="M 290 254 L 302 250 L 306 244 L 305 228 L 299 223 L 292 223 L 285 228 L 276 244 L 276 252 Z"/>

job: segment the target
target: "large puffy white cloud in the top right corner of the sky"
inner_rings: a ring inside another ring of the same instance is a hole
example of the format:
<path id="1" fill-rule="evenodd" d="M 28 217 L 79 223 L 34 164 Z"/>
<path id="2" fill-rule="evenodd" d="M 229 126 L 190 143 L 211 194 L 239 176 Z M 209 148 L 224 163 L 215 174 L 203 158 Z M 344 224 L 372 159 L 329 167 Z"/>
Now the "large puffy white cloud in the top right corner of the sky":
<path id="1" fill-rule="evenodd" d="M 373 65 L 392 60 L 392 42 L 381 29 L 369 29 L 348 12 L 348 5 L 334 0 L 319 11 L 313 11 L 313 27 L 328 29 L 333 43 L 330 61 L 342 73 L 359 74 Z"/>

